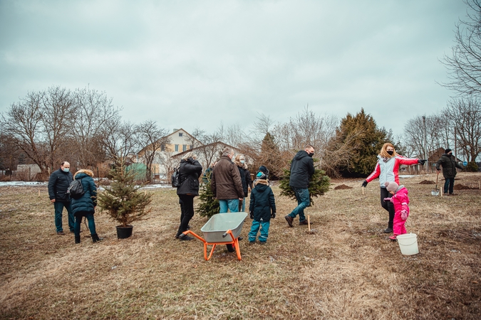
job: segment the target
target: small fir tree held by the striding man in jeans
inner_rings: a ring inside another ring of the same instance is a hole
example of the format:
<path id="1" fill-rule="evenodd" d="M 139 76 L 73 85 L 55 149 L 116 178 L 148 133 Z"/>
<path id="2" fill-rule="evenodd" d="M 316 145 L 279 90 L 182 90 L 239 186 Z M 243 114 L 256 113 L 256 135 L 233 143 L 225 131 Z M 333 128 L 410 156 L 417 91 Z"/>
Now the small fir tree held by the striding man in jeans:
<path id="1" fill-rule="evenodd" d="M 319 159 L 314 159 L 314 164 L 318 161 Z M 295 200 L 296 194 L 289 186 L 290 178 L 291 171 L 289 166 L 289 169 L 284 169 L 284 176 L 281 178 L 279 188 L 281 188 L 281 196 L 286 196 Z M 314 174 L 311 176 L 311 180 L 309 180 L 309 186 L 307 187 L 309 190 L 309 202 L 311 203 L 311 206 L 314 205 L 313 197 L 324 195 L 324 193 L 329 191 L 330 184 L 331 179 L 329 179 L 329 176 L 326 176 L 326 172 L 321 169 L 315 169 Z"/>

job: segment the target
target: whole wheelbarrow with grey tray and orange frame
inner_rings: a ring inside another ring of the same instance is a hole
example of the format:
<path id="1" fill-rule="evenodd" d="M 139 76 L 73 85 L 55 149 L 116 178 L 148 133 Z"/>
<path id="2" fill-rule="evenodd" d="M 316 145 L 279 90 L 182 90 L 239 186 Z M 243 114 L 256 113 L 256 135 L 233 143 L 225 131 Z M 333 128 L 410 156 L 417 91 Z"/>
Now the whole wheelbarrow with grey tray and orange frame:
<path id="1" fill-rule="evenodd" d="M 190 230 L 184 232 L 185 235 L 191 234 L 195 238 L 204 242 L 204 259 L 210 260 L 216 245 L 227 245 L 229 252 L 237 252 L 237 259 L 241 260 L 239 249 L 239 235 L 242 231 L 242 225 L 247 218 L 245 212 L 217 213 L 207 221 L 200 229 L 204 234 L 202 239 Z M 207 257 L 207 245 L 212 245 L 210 255 Z"/>

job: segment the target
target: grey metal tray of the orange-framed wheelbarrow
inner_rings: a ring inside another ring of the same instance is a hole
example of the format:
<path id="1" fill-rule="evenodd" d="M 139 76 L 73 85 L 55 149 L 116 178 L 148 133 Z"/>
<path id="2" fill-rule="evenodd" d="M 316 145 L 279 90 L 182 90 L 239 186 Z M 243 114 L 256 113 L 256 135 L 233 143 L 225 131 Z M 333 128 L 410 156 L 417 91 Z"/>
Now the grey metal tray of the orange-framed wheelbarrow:
<path id="1" fill-rule="evenodd" d="M 247 213 L 245 212 L 217 213 L 217 215 L 212 215 L 200 230 L 204 233 L 207 242 L 232 242 L 230 235 L 225 238 L 222 238 L 222 235 L 227 230 L 232 230 L 234 238 L 239 237 L 246 218 Z"/>

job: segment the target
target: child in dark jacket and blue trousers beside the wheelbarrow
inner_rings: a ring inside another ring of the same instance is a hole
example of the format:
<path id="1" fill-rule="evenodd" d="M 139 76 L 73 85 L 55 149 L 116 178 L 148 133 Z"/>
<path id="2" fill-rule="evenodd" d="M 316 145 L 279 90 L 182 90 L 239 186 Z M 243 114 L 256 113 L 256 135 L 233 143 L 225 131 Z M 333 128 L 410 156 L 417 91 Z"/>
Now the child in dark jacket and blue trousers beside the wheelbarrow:
<path id="1" fill-rule="evenodd" d="M 259 242 L 264 244 L 269 237 L 269 225 L 271 218 L 276 218 L 276 201 L 272 193 L 266 175 L 262 172 L 257 174 L 257 180 L 251 191 L 251 202 L 249 203 L 249 213 L 252 220 L 251 230 L 249 231 L 249 243 L 254 243 L 257 238 L 259 228 Z"/>

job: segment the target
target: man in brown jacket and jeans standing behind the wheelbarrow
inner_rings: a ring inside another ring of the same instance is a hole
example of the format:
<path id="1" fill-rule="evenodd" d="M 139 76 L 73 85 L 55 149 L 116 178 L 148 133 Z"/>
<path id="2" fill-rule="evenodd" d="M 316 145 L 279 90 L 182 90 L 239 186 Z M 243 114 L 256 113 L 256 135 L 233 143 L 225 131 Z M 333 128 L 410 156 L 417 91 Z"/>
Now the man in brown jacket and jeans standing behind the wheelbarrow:
<path id="1" fill-rule="evenodd" d="M 222 157 L 212 170 L 212 181 L 210 188 L 214 197 L 219 200 L 219 213 L 239 211 L 239 201 L 244 199 L 242 181 L 236 164 L 232 162 L 234 151 L 225 147 Z"/>

